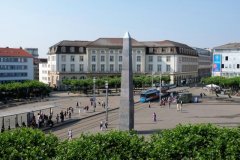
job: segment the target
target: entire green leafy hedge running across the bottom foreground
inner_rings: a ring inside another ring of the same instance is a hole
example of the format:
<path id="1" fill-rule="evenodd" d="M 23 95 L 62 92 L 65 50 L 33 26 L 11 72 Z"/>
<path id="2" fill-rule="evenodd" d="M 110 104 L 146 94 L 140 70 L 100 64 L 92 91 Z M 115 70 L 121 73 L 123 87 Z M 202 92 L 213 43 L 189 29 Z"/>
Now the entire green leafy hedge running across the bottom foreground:
<path id="1" fill-rule="evenodd" d="M 178 125 L 148 139 L 136 132 L 110 131 L 60 141 L 21 128 L 0 134 L 0 159 L 240 159 L 240 129 Z"/>

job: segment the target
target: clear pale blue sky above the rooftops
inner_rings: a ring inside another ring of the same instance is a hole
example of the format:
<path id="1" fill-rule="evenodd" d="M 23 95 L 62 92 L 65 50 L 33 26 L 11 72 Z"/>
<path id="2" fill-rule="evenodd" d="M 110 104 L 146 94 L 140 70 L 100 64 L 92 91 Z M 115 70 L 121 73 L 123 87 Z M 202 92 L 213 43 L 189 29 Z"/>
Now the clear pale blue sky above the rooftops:
<path id="1" fill-rule="evenodd" d="M 0 47 L 122 37 L 212 48 L 240 42 L 240 0 L 2 0 Z"/>

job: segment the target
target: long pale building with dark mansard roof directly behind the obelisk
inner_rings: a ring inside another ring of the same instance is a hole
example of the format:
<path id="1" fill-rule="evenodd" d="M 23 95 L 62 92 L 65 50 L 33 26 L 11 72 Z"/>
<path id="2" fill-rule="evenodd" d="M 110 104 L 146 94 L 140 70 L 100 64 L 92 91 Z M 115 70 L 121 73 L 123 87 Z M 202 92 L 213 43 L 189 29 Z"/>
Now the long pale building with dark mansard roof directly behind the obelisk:
<path id="1" fill-rule="evenodd" d="M 173 41 L 139 42 L 132 39 L 134 74 L 170 75 L 171 83 L 196 81 L 196 51 Z M 64 89 L 64 79 L 121 75 L 122 38 L 61 41 L 49 48 L 49 84 Z"/>

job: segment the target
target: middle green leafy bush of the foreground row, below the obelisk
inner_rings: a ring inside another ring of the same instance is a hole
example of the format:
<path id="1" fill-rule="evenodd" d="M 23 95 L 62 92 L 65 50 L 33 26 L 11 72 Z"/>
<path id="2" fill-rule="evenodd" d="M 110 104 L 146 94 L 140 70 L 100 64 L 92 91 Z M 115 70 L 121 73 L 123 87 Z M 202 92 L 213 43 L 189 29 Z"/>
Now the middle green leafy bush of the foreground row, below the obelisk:
<path id="1" fill-rule="evenodd" d="M 132 132 L 81 135 L 58 146 L 57 159 L 146 159 L 148 145 Z"/>

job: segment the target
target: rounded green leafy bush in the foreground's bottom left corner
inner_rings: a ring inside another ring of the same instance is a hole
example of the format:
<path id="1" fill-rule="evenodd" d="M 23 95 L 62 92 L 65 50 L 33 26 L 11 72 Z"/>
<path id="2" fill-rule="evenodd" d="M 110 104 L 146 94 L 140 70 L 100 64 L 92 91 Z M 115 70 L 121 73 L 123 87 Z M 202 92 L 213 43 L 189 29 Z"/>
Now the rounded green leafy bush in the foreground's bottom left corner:
<path id="1" fill-rule="evenodd" d="M 56 156 L 58 139 L 40 130 L 19 128 L 0 134 L 0 159 L 50 159 Z"/>

